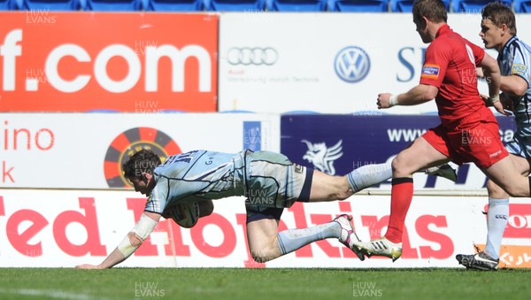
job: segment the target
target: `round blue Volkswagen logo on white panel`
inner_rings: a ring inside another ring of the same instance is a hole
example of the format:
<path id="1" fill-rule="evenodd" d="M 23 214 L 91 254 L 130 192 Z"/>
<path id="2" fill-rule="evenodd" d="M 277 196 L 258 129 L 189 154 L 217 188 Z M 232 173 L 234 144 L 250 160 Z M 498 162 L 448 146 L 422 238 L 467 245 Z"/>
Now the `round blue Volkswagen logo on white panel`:
<path id="1" fill-rule="evenodd" d="M 342 81 L 355 83 L 366 78 L 371 69 L 371 60 L 365 50 L 349 46 L 337 53 L 334 67 L 335 73 Z"/>

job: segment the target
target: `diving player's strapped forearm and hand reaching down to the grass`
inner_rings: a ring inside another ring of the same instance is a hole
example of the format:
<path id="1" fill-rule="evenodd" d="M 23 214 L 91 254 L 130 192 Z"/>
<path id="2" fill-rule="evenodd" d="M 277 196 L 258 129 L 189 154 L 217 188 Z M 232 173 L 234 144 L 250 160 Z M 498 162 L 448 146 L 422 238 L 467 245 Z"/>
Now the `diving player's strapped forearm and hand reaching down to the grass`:
<path id="1" fill-rule="evenodd" d="M 126 258 L 130 257 L 135 250 L 142 245 L 142 242 L 150 236 L 157 226 L 160 214 L 156 212 L 143 212 L 133 230 L 127 234 L 118 247 L 112 251 L 104 262 L 100 265 L 77 265 L 76 269 L 108 269 L 118 265 Z"/>

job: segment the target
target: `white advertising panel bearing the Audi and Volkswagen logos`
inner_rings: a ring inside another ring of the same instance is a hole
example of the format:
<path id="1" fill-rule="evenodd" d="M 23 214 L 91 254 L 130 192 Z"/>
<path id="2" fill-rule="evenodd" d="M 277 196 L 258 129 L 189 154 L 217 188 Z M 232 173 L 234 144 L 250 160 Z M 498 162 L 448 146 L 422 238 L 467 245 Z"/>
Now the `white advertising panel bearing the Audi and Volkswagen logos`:
<path id="1" fill-rule="evenodd" d="M 482 46 L 480 21 L 478 13 L 449 16 Z M 220 112 L 377 111 L 379 93 L 419 83 L 427 48 L 409 13 L 227 13 L 219 22 Z M 519 28 L 530 22 L 518 16 Z M 529 30 L 519 37 L 531 42 Z M 435 111 L 432 101 L 385 112 Z"/>

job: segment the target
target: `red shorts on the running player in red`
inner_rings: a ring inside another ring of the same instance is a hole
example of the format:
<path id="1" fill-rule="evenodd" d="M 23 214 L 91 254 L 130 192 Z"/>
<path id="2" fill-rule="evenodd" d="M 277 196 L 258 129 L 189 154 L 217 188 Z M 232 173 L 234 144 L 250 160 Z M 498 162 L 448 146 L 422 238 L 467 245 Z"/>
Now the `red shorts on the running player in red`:
<path id="1" fill-rule="evenodd" d="M 492 117 L 490 117 L 492 116 Z M 424 139 L 458 165 L 472 162 L 485 169 L 509 155 L 499 134 L 492 112 L 475 112 L 451 128 L 430 128 Z"/>

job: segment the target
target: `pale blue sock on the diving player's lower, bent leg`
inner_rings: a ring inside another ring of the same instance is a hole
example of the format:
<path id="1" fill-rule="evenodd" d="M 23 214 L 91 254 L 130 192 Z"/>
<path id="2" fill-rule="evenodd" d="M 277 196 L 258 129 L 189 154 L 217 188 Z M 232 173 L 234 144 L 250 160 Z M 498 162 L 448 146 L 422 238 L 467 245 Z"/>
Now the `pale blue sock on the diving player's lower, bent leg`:
<path id="1" fill-rule="evenodd" d="M 328 222 L 304 229 L 288 229 L 280 232 L 278 236 L 281 255 L 295 251 L 311 242 L 324 240 L 330 237 L 339 237 L 341 227 L 337 222 Z"/>

